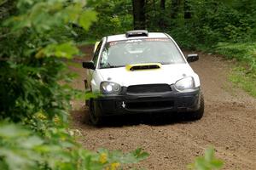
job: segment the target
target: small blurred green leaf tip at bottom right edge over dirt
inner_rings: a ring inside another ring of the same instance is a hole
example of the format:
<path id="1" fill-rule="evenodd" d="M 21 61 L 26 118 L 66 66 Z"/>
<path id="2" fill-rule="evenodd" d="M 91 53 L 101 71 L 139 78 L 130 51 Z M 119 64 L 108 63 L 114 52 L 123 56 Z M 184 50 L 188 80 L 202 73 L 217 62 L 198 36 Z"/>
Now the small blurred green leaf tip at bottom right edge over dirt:
<path id="1" fill-rule="evenodd" d="M 188 169 L 194 170 L 213 170 L 223 167 L 224 163 L 214 157 L 214 149 L 207 148 L 205 156 L 199 156 L 194 163 L 189 164 Z"/>

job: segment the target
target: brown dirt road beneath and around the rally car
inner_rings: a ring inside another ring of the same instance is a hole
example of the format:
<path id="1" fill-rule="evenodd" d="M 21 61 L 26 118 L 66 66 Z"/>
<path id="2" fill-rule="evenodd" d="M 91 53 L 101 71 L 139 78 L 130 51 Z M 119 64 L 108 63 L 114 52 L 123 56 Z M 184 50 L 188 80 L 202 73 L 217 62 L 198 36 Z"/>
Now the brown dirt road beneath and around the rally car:
<path id="1" fill-rule="evenodd" d="M 191 53 L 191 52 L 190 52 Z M 150 156 L 139 163 L 146 169 L 186 169 L 209 144 L 224 160 L 224 169 L 256 169 L 256 99 L 228 82 L 230 61 L 208 54 L 193 64 L 201 77 L 205 95 L 205 116 L 200 121 L 184 121 L 182 116 L 116 117 L 105 127 L 88 122 L 83 102 L 73 102 L 73 128 L 81 131 L 85 148 L 134 150 L 142 147 Z M 84 89 L 84 69 L 71 66 L 80 77 L 74 88 Z"/>

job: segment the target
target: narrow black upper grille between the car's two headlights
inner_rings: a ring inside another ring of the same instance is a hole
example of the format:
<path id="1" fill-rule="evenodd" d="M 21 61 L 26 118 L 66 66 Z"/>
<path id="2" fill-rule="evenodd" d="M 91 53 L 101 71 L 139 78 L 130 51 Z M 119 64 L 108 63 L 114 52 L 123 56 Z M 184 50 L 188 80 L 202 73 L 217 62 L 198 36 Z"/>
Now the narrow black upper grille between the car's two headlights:
<path id="1" fill-rule="evenodd" d="M 170 92 L 172 88 L 168 84 L 144 84 L 127 88 L 127 94 L 162 93 Z"/>

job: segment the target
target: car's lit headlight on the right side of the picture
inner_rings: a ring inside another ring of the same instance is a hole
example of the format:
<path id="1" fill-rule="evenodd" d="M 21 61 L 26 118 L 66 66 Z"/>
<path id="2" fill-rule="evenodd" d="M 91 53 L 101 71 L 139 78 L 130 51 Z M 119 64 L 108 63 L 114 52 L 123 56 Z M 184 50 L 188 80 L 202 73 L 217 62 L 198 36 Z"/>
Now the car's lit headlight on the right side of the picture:
<path id="1" fill-rule="evenodd" d="M 180 90 L 180 91 L 195 88 L 194 78 L 193 77 L 184 77 L 183 79 L 178 80 L 175 83 L 175 88 L 177 88 L 177 90 Z"/>

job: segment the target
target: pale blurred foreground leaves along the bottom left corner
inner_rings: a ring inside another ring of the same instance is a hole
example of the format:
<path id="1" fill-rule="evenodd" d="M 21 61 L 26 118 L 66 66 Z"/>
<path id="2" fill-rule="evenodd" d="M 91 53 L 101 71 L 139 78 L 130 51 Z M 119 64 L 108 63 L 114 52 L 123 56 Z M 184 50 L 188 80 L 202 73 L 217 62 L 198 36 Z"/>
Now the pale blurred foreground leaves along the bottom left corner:
<path id="1" fill-rule="evenodd" d="M 119 169 L 148 156 L 143 150 L 83 150 L 65 129 L 50 128 L 44 138 L 20 125 L 0 124 L 1 169 Z"/>

